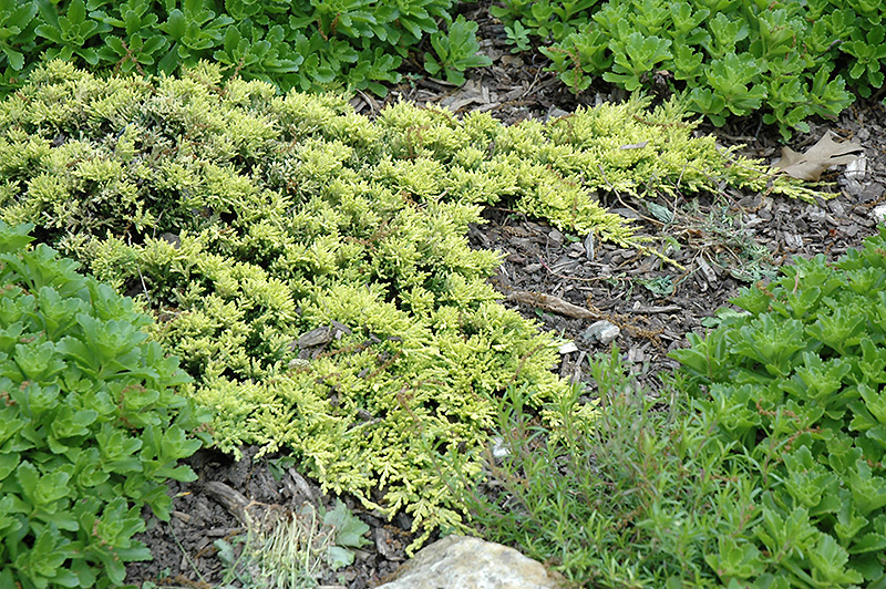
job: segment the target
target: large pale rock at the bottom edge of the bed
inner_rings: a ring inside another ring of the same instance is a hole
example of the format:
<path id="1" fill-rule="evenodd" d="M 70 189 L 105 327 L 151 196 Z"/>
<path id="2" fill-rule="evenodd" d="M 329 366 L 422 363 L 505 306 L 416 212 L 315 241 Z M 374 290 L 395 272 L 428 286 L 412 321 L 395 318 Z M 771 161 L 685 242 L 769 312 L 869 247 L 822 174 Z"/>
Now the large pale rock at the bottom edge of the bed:
<path id="1" fill-rule="evenodd" d="M 513 548 L 447 536 L 420 550 L 377 589 L 554 589 L 562 581 Z"/>

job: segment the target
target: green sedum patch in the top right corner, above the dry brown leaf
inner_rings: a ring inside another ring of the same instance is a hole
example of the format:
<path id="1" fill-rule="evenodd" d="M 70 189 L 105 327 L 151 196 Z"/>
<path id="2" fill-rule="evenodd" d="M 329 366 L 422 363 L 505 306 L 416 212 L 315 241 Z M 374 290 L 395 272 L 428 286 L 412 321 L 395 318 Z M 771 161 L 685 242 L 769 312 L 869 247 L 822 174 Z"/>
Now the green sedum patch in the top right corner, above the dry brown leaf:
<path id="1" fill-rule="evenodd" d="M 493 14 L 540 39 L 574 92 L 601 76 L 678 93 L 722 125 L 762 111 L 786 140 L 883 86 L 883 7 L 870 0 L 506 0 Z"/>

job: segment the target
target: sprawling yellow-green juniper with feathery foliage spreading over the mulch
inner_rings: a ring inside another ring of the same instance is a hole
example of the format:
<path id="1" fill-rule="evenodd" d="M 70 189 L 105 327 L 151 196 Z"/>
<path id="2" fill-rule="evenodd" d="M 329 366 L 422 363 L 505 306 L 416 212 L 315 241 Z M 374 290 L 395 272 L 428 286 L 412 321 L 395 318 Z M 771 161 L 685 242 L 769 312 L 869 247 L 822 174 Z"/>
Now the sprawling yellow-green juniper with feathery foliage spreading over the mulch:
<path id="1" fill-rule="evenodd" d="M 482 447 L 505 388 L 545 414 L 566 386 L 554 339 L 486 282 L 498 255 L 467 245 L 482 205 L 630 245 L 595 190 L 766 185 L 672 105 L 506 127 L 400 104 L 371 122 L 341 97 L 220 81 L 35 71 L 0 103 L 0 218 L 153 312 L 219 447 L 291 448 L 326 489 L 425 534 L 461 523 L 434 453 Z M 337 338 L 300 349 L 321 327 Z"/>

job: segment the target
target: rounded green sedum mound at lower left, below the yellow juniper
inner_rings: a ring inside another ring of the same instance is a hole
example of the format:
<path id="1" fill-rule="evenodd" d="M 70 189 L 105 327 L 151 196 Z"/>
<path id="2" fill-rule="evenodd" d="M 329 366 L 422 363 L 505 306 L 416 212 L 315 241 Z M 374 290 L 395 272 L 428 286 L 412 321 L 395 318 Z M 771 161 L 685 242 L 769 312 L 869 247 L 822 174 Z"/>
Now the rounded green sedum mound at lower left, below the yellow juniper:
<path id="1" fill-rule="evenodd" d="M 168 519 L 169 478 L 202 412 L 147 341 L 151 320 L 78 265 L 0 221 L 0 585 L 114 587 L 151 552 L 142 507 Z"/>

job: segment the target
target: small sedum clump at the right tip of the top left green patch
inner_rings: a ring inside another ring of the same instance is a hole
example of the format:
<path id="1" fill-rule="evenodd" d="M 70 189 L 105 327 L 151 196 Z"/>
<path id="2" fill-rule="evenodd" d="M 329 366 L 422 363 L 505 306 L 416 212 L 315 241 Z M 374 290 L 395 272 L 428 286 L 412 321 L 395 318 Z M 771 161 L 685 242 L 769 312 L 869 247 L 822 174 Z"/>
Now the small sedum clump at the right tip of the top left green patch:
<path id="1" fill-rule="evenodd" d="M 449 31 L 439 31 L 431 35 L 434 52 L 424 53 L 424 69 L 431 75 L 444 74 L 447 82 L 464 84 L 464 71 L 468 68 L 492 65 L 487 55 L 480 55 L 480 43 L 476 40 L 477 23 L 468 22 L 459 16 Z"/>

